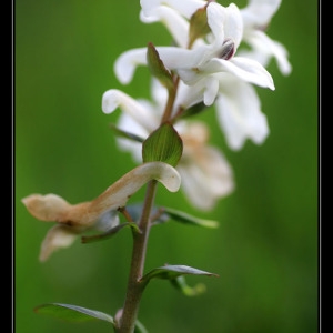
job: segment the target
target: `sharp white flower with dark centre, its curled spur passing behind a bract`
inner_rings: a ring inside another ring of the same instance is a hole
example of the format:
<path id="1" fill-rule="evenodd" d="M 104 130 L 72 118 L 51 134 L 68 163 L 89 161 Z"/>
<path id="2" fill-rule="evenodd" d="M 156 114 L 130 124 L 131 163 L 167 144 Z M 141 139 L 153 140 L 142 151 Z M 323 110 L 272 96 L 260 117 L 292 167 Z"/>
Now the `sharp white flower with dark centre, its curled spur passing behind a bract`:
<path id="1" fill-rule="evenodd" d="M 164 65 L 175 71 L 185 84 L 198 84 L 195 89 L 206 105 L 211 105 L 218 95 L 220 73 L 231 73 L 245 82 L 274 90 L 272 77 L 258 61 L 233 57 L 243 31 L 242 17 L 236 6 L 231 3 L 224 8 L 210 2 L 206 14 L 212 42 L 200 42 L 191 50 L 157 47 Z M 147 64 L 145 53 L 147 49 L 133 49 L 118 58 L 114 71 L 120 82 L 129 83 L 135 67 Z"/>

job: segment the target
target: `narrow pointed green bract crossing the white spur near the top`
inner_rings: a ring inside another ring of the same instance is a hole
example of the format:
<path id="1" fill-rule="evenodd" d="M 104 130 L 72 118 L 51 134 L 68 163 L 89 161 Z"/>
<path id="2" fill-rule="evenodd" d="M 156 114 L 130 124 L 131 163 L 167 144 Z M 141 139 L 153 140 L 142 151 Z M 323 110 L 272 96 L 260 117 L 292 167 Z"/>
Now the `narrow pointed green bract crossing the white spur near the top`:
<path id="1" fill-rule="evenodd" d="M 152 43 L 148 43 L 147 62 L 152 75 L 155 77 L 168 89 L 168 91 L 172 91 L 174 89 L 172 75 L 165 68 L 159 52 Z"/>

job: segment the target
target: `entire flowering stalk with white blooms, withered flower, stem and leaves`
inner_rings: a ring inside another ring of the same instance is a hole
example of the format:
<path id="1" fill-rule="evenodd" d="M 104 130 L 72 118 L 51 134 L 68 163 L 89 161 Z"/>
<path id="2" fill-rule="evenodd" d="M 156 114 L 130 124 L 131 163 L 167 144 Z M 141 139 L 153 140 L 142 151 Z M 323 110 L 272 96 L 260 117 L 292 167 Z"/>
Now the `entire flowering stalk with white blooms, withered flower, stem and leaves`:
<path id="1" fill-rule="evenodd" d="M 234 190 L 233 172 L 221 150 L 210 145 L 209 127 L 193 121 L 199 112 L 214 105 L 218 122 L 228 145 L 240 150 L 245 140 L 260 144 L 269 134 L 255 87 L 275 89 L 265 65 L 275 58 L 283 74 L 291 71 L 284 47 L 263 31 L 281 0 L 249 0 L 239 9 L 203 0 L 141 0 L 140 19 L 162 22 L 174 46 L 133 49 L 115 61 L 121 83 L 132 80 L 138 65 L 152 74 L 152 101 L 135 100 L 111 89 L 102 97 L 102 111 L 120 114 L 112 125 L 120 149 L 132 153 L 139 164 L 92 201 L 70 204 L 56 194 L 31 194 L 22 200 L 37 219 L 56 222 L 42 242 L 40 260 L 46 261 L 78 235 L 90 230 L 102 233 L 83 235 L 82 243 L 104 240 L 125 226 L 131 228 L 133 246 L 123 307 L 114 317 L 99 311 L 51 303 L 36 309 L 39 313 L 64 319 L 98 319 L 112 324 L 117 333 L 144 333 L 138 321 L 143 291 L 153 279 L 169 280 L 185 295 L 200 294 L 202 286 L 190 287 L 184 275 L 216 275 L 186 265 L 163 265 L 144 273 L 150 230 L 169 220 L 215 228 L 216 221 L 203 220 L 155 204 L 158 183 L 170 192 L 182 189 L 189 203 L 202 211 Z M 239 51 L 241 42 L 250 50 Z M 147 185 L 144 202 L 128 201 Z M 127 222 L 120 223 L 119 213 Z M 75 312 L 74 315 L 71 315 Z"/>

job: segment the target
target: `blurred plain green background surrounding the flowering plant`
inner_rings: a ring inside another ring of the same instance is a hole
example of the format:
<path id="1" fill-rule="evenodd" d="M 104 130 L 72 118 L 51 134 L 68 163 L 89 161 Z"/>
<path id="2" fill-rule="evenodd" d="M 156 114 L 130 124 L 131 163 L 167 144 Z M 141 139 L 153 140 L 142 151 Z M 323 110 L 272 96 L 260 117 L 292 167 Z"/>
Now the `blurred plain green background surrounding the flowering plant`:
<path id="1" fill-rule="evenodd" d="M 229 2 L 220 1 L 226 6 Z M 246 1 L 235 2 L 240 8 Z M 220 278 L 189 276 L 206 292 L 185 297 L 168 282 L 147 289 L 139 319 L 153 333 L 317 332 L 317 1 L 289 0 L 269 36 L 290 52 L 293 71 L 269 67 L 276 90 L 256 89 L 271 134 L 261 145 L 229 150 L 212 110 L 201 118 L 211 142 L 233 167 L 236 190 L 202 213 L 182 192 L 159 188 L 157 203 L 220 221 L 208 230 L 167 223 L 152 230 L 145 271 L 186 264 Z M 140 68 L 122 87 L 117 57 L 148 42 L 168 44 L 159 23 L 139 21 L 139 0 L 17 0 L 14 2 L 14 325 L 17 333 L 112 332 L 109 324 L 71 324 L 37 315 L 36 305 L 70 303 L 113 315 L 122 306 L 131 235 L 81 244 L 38 261 L 51 226 L 21 203 L 31 193 L 91 200 L 134 167 L 117 150 L 101 98 L 111 88 L 149 98 Z M 143 191 L 131 200 L 140 201 Z"/>

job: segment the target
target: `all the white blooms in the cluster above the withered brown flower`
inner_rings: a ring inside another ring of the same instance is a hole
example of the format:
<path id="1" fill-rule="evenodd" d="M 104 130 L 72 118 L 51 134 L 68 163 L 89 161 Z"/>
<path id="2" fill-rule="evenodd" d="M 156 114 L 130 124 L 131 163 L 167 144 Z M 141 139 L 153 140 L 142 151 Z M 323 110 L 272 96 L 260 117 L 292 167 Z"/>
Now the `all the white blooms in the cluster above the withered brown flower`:
<path id="1" fill-rule="evenodd" d="M 262 143 L 269 134 L 265 114 L 253 85 L 274 90 L 264 65 L 278 60 L 284 74 L 291 71 L 284 47 L 262 30 L 268 27 L 280 0 L 252 0 L 244 9 L 234 3 L 223 7 L 201 0 L 141 0 L 140 19 L 144 23 L 161 22 L 170 31 L 172 47 L 155 47 L 165 68 L 178 78 L 178 90 L 171 119 L 184 143 L 176 169 L 182 190 L 198 209 L 209 210 L 234 188 L 233 172 L 223 153 L 208 144 L 204 123 L 184 120 L 181 113 L 193 105 L 214 104 L 216 119 L 232 150 L 245 140 Z M 238 50 L 241 42 L 251 47 Z M 132 49 L 115 61 L 114 72 L 123 84 L 131 82 L 138 65 L 149 65 L 147 48 Z M 102 110 L 123 113 L 118 127 L 147 138 L 158 128 L 168 101 L 168 91 L 159 80 L 151 82 L 152 101 L 134 100 L 111 89 L 102 98 Z M 119 138 L 119 145 L 142 162 L 140 142 Z"/>

